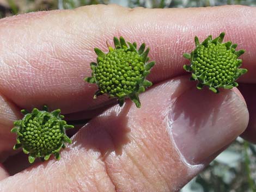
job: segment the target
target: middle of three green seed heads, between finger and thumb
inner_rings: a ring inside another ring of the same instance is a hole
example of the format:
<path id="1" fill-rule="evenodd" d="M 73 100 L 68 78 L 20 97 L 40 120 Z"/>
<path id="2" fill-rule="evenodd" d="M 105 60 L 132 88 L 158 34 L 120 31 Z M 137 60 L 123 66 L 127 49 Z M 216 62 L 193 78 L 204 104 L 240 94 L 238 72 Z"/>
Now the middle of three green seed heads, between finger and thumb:
<path id="1" fill-rule="evenodd" d="M 135 42 L 126 42 L 123 37 L 114 37 L 114 46 L 108 46 L 109 52 L 103 53 L 95 48 L 97 63 L 91 63 L 92 77 L 87 77 L 88 83 L 96 83 L 99 90 L 94 98 L 107 94 L 109 97 L 118 98 L 119 106 L 123 106 L 126 97 L 131 98 L 136 106 L 141 107 L 139 93 L 152 85 L 146 80 L 154 61 L 149 61 L 149 48 L 145 50 L 142 44 L 137 50 Z"/>

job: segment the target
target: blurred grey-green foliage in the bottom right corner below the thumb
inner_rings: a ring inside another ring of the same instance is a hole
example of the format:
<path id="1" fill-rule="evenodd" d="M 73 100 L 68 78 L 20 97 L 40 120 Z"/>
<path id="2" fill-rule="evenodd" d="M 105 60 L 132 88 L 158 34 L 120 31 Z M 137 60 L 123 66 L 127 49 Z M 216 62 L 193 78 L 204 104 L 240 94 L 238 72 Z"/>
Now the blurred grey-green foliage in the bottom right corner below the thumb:
<path id="1" fill-rule="evenodd" d="M 256 192 L 256 146 L 237 138 L 180 192 Z"/>

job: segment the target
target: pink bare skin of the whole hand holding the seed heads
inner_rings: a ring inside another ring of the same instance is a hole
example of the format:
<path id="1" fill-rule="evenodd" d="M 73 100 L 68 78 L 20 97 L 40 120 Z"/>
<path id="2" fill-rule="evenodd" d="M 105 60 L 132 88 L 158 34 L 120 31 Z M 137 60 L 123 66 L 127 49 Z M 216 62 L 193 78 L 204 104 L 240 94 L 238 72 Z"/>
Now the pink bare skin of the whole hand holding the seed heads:
<path id="1" fill-rule="evenodd" d="M 255 16 L 256 8 L 241 6 L 97 5 L 0 20 L 0 190 L 178 191 L 239 135 L 255 143 Z M 194 48 L 194 35 L 202 41 L 221 32 L 246 49 L 241 58 L 248 72 L 239 79 L 241 92 L 215 95 L 188 80 L 182 53 Z M 96 86 L 83 81 L 96 57 L 93 48 L 107 51 L 106 40 L 113 45 L 120 35 L 145 42 L 156 61 L 148 78 L 154 86 L 140 95 L 141 109 L 130 101 L 120 108 L 105 96 L 93 100 Z M 68 120 L 92 120 L 59 161 L 19 172 L 27 157 L 8 158 L 16 153 L 10 129 L 21 108 L 43 104 L 62 109 Z"/>

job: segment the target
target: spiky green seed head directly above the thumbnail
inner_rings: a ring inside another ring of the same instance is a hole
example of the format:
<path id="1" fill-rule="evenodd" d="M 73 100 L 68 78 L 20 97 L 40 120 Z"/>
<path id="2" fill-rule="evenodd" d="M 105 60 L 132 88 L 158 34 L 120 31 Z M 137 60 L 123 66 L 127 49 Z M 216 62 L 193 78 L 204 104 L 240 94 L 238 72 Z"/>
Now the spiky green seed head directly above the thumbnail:
<path id="1" fill-rule="evenodd" d="M 245 51 L 235 51 L 237 45 L 230 41 L 223 43 L 224 35 L 221 33 L 214 40 L 210 35 L 201 44 L 196 36 L 196 49 L 184 54 L 190 59 L 190 65 L 184 65 L 184 69 L 192 72 L 191 80 L 198 81 L 198 89 L 204 85 L 215 93 L 219 92 L 218 88 L 232 89 L 238 86 L 235 80 L 247 72 L 246 69 L 239 69 L 242 60 L 237 59 Z"/>

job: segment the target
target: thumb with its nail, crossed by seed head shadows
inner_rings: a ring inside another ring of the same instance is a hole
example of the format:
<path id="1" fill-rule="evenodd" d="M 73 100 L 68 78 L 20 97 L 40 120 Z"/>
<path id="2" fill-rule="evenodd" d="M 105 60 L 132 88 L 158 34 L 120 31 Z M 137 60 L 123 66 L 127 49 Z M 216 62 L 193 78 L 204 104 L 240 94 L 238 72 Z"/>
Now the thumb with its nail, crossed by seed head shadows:
<path id="1" fill-rule="evenodd" d="M 248 111 L 235 91 L 198 91 L 186 77 L 95 117 L 59 161 L 0 182 L 2 191 L 178 191 L 240 135 Z"/>

